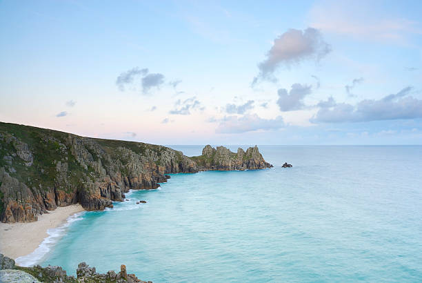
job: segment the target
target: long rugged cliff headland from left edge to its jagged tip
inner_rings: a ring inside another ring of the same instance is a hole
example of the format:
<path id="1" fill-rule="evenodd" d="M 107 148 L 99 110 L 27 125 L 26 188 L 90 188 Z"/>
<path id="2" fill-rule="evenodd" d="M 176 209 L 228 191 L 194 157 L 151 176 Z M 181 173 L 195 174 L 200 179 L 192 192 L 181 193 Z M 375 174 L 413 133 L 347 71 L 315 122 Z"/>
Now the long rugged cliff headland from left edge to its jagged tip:
<path id="1" fill-rule="evenodd" d="M 57 206 L 112 207 L 130 189 L 152 189 L 168 173 L 269 168 L 257 146 L 199 157 L 141 142 L 80 137 L 0 122 L 0 221 L 32 222 Z"/>

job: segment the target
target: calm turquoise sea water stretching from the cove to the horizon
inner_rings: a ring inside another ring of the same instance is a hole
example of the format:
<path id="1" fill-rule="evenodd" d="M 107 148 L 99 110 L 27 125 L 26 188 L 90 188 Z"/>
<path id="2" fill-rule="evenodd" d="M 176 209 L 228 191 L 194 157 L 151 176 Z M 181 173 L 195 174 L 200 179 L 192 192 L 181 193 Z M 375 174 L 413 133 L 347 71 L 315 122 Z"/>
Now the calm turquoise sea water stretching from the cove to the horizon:
<path id="1" fill-rule="evenodd" d="M 274 168 L 172 175 L 85 213 L 42 264 L 126 264 L 154 282 L 422 281 L 422 146 L 260 151 Z"/>

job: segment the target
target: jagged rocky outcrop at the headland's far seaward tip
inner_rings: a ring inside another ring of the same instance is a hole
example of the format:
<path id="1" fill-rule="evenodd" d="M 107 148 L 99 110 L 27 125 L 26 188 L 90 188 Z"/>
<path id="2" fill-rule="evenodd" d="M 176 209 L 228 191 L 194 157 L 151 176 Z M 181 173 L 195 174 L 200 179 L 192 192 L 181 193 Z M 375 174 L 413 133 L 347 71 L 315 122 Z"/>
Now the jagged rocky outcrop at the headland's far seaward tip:
<path id="1" fill-rule="evenodd" d="M 237 153 L 232 153 L 224 146 L 205 146 L 202 155 L 191 157 L 197 162 L 198 170 L 253 170 L 271 168 L 272 165 L 265 162 L 257 146 L 250 147 L 246 152 L 242 148 Z"/>

